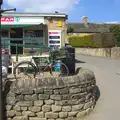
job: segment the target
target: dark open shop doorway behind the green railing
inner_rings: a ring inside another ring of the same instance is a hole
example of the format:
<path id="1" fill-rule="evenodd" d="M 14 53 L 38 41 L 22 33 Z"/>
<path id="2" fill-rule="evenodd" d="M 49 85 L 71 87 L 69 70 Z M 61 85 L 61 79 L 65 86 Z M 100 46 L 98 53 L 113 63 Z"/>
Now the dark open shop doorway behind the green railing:
<path id="1" fill-rule="evenodd" d="M 23 45 L 23 28 L 11 28 L 10 31 L 10 43 Z M 10 46 L 11 54 L 16 54 L 16 46 Z M 18 54 L 23 54 L 23 47 L 18 46 Z"/>

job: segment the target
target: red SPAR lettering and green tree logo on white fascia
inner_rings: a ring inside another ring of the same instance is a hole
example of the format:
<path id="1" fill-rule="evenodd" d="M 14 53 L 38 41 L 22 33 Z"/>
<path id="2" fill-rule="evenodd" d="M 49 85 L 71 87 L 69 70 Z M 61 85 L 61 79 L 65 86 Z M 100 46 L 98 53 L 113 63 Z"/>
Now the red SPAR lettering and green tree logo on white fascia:
<path id="1" fill-rule="evenodd" d="M 20 21 L 19 17 L 2 17 L 1 18 L 1 23 L 14 23 L 19 21 Z"/>

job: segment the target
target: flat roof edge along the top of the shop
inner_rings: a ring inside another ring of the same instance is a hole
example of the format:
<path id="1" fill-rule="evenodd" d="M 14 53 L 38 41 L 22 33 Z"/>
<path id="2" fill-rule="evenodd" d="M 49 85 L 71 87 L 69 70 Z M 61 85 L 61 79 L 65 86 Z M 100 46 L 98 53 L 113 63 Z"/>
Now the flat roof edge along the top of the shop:
<path id="1" fill-rule="evenodd" d="M 28 17 L 65 17 L 67 18 L 67 14 L 65 13 L 32 13 L 32 12 L 4 12 L 3 16 L 28 16 Z"/>

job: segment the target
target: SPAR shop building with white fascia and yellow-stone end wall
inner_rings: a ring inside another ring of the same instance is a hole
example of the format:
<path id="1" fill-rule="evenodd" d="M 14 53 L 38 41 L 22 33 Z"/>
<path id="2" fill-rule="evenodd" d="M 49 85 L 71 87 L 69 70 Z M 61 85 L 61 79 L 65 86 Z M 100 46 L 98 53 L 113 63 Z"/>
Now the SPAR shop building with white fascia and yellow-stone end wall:
<path id="1" fill-rule="evenodd" d="M 2 47 L 16 54 L 16 47 L 10 44 L 28 45 L 18 47 L 18 54 L 26 53 L 30 46 L 43 43 L 49 47 L 64 46 L 66 36 L 66 14 L 60 13 L 18 13 L 2 14 Z M 36 48 L 37 49 L 37 48 Z"/>

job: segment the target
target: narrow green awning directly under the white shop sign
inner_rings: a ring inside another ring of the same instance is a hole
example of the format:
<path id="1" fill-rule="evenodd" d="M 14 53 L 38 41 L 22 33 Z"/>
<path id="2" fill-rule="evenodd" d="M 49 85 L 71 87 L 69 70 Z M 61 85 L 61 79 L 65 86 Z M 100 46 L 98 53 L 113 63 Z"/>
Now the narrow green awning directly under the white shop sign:
<path id="1" fill-rule="evenodd" d="M 5 28 L 23 28 L 23 27 L 29 27 L 29 26 L 41 26 L 41 24 L 36 24 L 36 25 L 33 25 L 33 24 L 16 24 L 16 25 L 1 25 L 1 28 L 2 29 L 5 29 Z"/>

